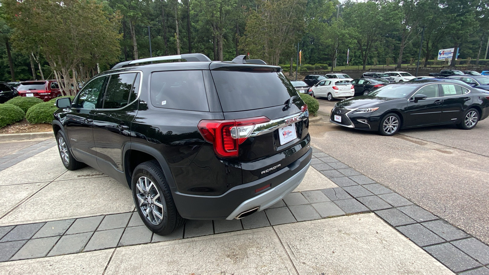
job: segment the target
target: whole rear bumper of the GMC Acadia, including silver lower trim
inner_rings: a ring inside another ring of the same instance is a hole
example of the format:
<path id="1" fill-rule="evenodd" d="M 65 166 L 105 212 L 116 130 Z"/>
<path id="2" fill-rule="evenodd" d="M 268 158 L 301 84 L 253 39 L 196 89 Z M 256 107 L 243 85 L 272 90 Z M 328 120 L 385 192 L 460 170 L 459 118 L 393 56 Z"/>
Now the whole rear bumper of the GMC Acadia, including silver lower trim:
<path id="1" fill-rule="evenodd" d="M 259 207 L 259 210 L 263 210 L 281 200 L 301 183 L 311 164 L 311 156 L 312 149 L 309 148 L 303 156 L 281 170 L 235 186 L 220 196 L 190 195 L 177 191 L 173 199 L 180 215 L 191 220 L 233 219 L 250 208 Z M 271 188 L 255 193 L 256 189 L 267 184 Z"/>

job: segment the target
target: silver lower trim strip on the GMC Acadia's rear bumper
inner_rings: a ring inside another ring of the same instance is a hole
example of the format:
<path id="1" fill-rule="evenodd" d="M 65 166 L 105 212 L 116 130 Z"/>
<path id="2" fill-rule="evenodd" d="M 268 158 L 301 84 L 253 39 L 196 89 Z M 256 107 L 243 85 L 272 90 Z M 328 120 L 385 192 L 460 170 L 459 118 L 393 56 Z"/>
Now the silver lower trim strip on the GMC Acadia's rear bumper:
<path id="1" fill-rule="evenodd" d="M 276 204 L 285 196 L 289 195 L 289 193 L 292 192 L 299 185 L 299 183 L 302 182 L 310 165 L 311 160 L 304 168 L 297 172 L 297 174 L 290 177 L 287 181 L 271 188 L 263 194 L 244 201 L 241 205 L 234 209 L 234 211 L 226 218 L 226 220 L 232 220 L 241 212 L 254 207 L 259 207 L 260 209 L 258 211 L 262 211 L 267 207 Z"/>

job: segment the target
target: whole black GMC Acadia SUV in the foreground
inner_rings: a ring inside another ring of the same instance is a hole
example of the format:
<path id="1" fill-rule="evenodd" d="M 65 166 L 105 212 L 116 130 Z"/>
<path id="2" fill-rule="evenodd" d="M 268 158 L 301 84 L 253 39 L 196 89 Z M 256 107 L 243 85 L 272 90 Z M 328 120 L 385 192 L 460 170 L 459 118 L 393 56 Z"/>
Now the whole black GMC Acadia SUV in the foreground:
<path id="1" fill-rule="evenodd" d="M 299 185 L 312 155 L 307 105 L 281 70 L 203 54 L 119 63 L 56 101 L 61 159 L 127 184 L 157 234 L 263 210 Z"/>

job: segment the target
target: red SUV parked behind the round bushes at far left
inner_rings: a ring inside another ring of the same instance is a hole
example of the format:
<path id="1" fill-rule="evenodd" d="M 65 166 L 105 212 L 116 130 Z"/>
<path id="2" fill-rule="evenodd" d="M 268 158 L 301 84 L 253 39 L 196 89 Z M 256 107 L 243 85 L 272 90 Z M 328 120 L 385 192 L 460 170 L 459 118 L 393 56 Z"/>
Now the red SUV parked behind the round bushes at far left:
<path id="1" fill-rule="evenodd" d="M 61 91 L 56 80 L 24 81 L 17 87 L 21 96 L 37 97 L 49 101 L 61 96 Z"/>

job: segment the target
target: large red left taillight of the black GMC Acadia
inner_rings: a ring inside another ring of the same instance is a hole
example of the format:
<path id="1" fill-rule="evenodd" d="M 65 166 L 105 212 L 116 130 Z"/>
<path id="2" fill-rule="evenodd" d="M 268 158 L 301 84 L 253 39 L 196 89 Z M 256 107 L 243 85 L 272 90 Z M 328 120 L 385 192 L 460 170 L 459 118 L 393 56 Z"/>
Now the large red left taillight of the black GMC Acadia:
<path id="1" fill-rule="evenodd" d="M 200 120 L 202 137 L 214 145 L 214 152 L 222 158 L 238 157 L 239 145 L 248 138 L 256 124 L 268 122 L 266 116 L 230 120 Z"/>

